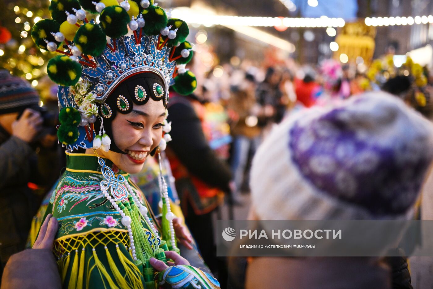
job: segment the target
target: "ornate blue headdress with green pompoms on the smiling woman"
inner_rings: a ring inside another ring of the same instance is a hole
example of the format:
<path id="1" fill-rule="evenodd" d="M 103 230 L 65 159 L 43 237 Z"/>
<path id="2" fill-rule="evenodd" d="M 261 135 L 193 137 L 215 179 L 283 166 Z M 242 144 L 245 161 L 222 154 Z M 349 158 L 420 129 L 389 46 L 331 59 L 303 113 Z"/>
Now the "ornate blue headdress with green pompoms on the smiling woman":
<path id="1" fill-rule="evenodd" d="M 47 72 L 59 84 L 58 137 L 68 149 L 108 150 L 105 131 L 110 135 L 117 112 L 149 98 L 166 106 L 170 85 L 181 94 L 197 86 L 185 69 L 193 56 L 187 24 L 168 19 L 153 0 L 52 0 L 49 10 L 52 19 L 37 22 L 31 35 L 40 48 L 61 54 Z M 110 149 L 123 153 L 116 144 Z"/>

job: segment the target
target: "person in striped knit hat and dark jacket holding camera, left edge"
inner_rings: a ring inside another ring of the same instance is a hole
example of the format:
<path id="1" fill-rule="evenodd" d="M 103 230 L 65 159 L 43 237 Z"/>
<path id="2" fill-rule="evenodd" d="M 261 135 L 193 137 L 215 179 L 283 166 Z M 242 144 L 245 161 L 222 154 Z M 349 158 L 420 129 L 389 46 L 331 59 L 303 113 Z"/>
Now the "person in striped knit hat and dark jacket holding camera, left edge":
<path id="1" fill-rule="evenodd" d="M 37 158 L 30 143 L 42 128 L 31 109 L 39 96 L 29 82 L 0 70 L 0 271 L 9 256 L 24 249 L 39 202 L 27 186 L 36 182 Z M 1 272 L 0 272 L 1 273 Z"/>

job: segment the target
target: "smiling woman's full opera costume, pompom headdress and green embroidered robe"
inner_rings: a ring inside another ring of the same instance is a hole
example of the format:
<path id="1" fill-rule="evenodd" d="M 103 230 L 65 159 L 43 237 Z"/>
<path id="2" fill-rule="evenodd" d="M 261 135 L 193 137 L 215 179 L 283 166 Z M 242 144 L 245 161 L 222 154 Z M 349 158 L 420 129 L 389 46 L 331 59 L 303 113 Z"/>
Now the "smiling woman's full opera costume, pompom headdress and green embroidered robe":
<path id="1" fill-rule="evenodd" d="M 184 68 L 193 54 L 185 41 L 187 24 L 168 20 L 165 11 L 148 0 L 52 0 L 50 12 L 53 19 L 37 22 L 31 35 L 40 48 L 63 54 L 48 62 L 47 71 L 60 85 L 57 135 L 68 156 L 49 204 L 41 208 L 45 212 L 34 220 L 31 239 L 43 216 L 53 213 L 59 221 L 54 253 L 64 288 L 157 288 L 158 282 L 174 288 L 219 287 L 213 277 L 191 266 L 155 276 L 149 259 L 167 261 L 165 250 L 179 251 L 162 175 L 159 227 L 129 174 L 97 154 L 72 153 L 93 148 L 126 154 L 111 141 L 118 113 L 128 114 L 150 98 L 166 106 L 170 85 L 180 93 L 195 89 L 194 74 Z M 133 34 L 126 36 L 128 28 Z M 167 133 L 169 124 L 163 125 Z M 166 134 L 160 149 L 168 139 Z"/>

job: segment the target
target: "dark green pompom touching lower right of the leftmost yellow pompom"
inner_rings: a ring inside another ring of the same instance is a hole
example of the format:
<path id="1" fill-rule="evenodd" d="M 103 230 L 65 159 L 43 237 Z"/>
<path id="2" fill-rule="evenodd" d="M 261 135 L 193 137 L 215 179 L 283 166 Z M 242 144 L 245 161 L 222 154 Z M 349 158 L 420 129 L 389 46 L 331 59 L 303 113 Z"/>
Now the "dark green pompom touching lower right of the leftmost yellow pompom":
<path id="1" fill-rule="evenodd" d="M 86 23 L 75 33 L 74 43 L 82 53 L 98 56 L 101 55 L 107 47 L 106 37 L 107 36 L 98 25 Z"/>

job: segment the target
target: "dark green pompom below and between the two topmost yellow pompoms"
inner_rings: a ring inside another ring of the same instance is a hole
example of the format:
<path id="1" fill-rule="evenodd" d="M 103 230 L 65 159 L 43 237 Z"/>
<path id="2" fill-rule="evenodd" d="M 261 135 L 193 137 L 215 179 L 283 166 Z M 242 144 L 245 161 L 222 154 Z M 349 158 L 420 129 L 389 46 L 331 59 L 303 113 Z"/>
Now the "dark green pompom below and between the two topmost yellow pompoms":
<path id="1" fill-rule="evenodd" d="M 117 39 L 128 33 L 129 15 L 120 6 L 109 6 L 102 10 L 99 20 L 107 36 Z"/>

